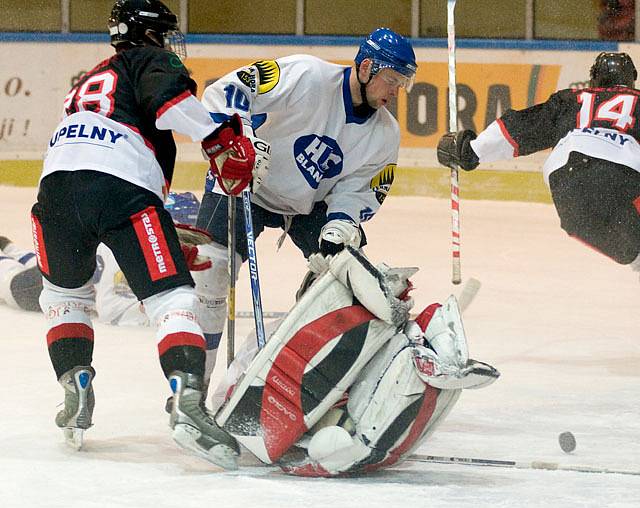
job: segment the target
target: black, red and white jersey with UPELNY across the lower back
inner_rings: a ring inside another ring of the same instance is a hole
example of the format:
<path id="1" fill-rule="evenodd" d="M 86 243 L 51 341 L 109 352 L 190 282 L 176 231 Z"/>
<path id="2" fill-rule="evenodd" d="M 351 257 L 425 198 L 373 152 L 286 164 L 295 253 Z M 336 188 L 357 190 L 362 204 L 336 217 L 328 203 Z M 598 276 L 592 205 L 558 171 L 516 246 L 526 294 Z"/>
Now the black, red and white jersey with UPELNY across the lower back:
<path id="1" fill-rule="evenodd" d="M 55 171 L 101 171 L 162 198 L 176 155 L 169 129 L 197 140 L 214 128 L 195 91 L 170 51 L 138 46 L 116 53 L 67 94 L 41 179 Z"/>

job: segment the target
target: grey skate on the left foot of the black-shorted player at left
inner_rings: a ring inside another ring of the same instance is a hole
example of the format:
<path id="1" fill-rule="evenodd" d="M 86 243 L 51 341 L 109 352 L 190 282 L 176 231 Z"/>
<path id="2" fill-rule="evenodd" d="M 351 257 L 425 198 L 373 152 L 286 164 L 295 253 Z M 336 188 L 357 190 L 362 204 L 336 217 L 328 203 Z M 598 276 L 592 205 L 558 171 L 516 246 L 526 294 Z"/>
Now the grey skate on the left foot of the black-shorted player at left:
<path id="1" fill-rule="evenodd" d="M 64 388 L 64 409 L 56 415 L 56 425 L 74 450 L 82 447 L 83 433 L 91 427 L 95 405 L 91 383 L 95 375 L 93 367 L 74 367 L 58 381 Z"/>

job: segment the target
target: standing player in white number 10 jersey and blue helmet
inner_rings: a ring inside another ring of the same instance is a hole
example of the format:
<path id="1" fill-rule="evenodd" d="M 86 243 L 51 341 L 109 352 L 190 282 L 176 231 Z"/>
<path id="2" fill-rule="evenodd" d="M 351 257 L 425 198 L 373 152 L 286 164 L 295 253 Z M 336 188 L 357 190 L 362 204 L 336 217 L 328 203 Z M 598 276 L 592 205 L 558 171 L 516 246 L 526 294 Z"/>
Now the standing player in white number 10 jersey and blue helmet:
<path id="1" fill-rule="evenodd" d="M 411 43 L 379 28 L 362 42 L 352 67 L 292 55 L 255 62 L 207 87 L 202 102 L 214 121 L 240 115 L 257 156 L 270 156 L 269 172 L 254 176 L 256 237 L 265 227 L 281 228 L 281 240 L 288 234 L 305 258 L 365 245 L 361 224 L 389 192 L 400 145 L 398 123 L 385 106 L 411 87 L 416 68 Z M 225 194 L 244 185 L 210 172 L 198 216 L 197 226 L 215 242 L 208 253 L 214 278 L 196 281 L 217 316 L 209 333 L 218 336 L 228 285 Z M 239 200 L 236 206 L 239 270 L 247 246 Z"/>

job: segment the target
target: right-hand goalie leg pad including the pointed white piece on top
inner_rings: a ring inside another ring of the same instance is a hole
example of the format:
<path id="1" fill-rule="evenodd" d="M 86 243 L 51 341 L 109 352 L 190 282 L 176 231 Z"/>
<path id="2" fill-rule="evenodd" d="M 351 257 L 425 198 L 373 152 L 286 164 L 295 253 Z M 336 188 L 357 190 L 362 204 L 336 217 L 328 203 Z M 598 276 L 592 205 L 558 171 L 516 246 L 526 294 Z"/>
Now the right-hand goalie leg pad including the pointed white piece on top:
<path id="1" fill-rule="evenodd" d="M 291 474 L 325 477 L 392 466 L 424 443 L 462 389 L 487 386 L 498 376 L 493 367 L 468 358 L 452 296 L 445 305 L 429 306 L 387 342 L 361 370 L 346 408 L 333 408 L 298 443 L 307 456 L 280 465 Z"/>

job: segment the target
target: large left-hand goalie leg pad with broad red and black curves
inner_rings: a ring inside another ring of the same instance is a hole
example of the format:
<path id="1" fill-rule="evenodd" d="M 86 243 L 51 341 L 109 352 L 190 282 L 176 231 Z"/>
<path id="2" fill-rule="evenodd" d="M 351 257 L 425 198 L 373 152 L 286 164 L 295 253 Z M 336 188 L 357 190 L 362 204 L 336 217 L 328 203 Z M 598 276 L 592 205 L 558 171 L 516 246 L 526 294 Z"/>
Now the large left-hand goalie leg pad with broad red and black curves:
<path id="1" fill-rule="evenodd" d="M 256 355 L 216 421 L 273 463 L 351 386 L 396 332 L 330 272 L 321 276 Z"/>

